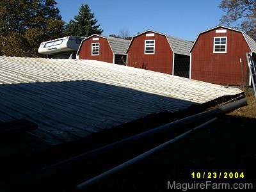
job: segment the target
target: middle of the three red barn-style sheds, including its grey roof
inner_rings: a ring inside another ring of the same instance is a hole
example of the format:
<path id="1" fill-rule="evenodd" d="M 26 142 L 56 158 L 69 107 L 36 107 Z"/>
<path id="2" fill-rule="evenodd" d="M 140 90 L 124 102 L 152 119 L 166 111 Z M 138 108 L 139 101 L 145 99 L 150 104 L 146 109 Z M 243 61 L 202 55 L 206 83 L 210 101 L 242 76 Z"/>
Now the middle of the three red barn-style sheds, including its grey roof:
<path id="1" fill-rule="evenodd" d="M 189 77 L 192 42 L 147 30 L 132 37 L 126 51 L 129 67 Z"/>

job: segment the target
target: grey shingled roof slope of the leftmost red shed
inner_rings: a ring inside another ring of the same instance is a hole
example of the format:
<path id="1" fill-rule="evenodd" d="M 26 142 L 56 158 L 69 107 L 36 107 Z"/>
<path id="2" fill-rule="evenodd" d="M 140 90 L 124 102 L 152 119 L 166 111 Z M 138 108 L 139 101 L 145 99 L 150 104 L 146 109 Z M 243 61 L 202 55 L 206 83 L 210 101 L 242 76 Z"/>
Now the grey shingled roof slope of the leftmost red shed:
<path id="1" fill-rule="evenodd" d="M 130 40 L 125 40 L 122 38 L 116 38 L 112 36 L 106 36 L 108 38 L 109 44 L 114 52 L 114 54 L 125 54 L 127 47 L 130 44 Z"/>

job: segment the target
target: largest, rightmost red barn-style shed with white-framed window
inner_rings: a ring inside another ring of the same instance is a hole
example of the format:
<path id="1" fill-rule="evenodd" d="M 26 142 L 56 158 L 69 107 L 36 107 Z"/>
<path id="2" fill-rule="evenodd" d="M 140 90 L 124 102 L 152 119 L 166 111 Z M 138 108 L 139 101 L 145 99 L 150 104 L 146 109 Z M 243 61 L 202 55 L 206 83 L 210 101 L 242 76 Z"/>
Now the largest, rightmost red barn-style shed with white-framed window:
<path id="1" fill-rule="evenodd" d="M 191 79 L 241 86 L 250 83 L 246 52 L 255 58 L 256 43 L 242 31 L 225 26 L 202 31 L 189 52 Z"/>

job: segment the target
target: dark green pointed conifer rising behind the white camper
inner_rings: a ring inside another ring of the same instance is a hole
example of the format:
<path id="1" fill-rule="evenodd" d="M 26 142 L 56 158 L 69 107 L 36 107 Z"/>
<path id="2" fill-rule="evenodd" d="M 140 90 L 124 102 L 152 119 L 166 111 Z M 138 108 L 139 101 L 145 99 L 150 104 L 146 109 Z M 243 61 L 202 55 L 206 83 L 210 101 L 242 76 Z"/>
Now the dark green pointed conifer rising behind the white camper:
<path id="1" fill-rule="evenodd" d="M 65 35 L 73 36 L 90 36 L 93 34 L 100 35 L 103 30 L 100 29 L 100 24 L 96 25 L 97 19 L 94 19 L 94 13 L 91 12 L 88 4 L 82 4 L 79 8 L 79 13 L 70 20 L 65 29 Z"/>

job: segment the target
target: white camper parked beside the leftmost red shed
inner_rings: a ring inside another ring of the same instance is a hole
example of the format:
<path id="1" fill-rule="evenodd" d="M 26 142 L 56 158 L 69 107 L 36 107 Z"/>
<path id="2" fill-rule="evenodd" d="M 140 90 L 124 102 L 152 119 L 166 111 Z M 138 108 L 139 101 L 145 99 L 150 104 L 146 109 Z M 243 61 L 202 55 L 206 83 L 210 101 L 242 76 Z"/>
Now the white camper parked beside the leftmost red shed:
<path id="1" fill-rule="evenodd" d="M 76 53 L 84 38 L 81 36 L 65 36 L 42 42 L 38 52 L 49 55 L 54 59 L 76 59 Z"/>

